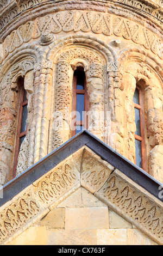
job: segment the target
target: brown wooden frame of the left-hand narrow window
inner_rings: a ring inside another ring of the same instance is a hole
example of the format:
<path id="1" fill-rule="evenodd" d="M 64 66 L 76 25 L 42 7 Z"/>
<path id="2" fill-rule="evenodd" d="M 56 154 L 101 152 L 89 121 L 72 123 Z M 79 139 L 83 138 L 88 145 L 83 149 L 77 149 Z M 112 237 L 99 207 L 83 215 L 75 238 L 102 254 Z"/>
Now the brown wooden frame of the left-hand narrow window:
<path id="1" fill-rule="evenodd" d="M 17 121 L 17 133 L 16 133 L 16 146 L 15 146 L 15 155 L 14 155 L 14 165 L 12 171 L 12 179 L 16 177 L 16 168 L 18 161 L 18 154 L 20 152 L 20 139 L 27 136 L 27 127 L 26 131 L 21 132 L 22 129 L 22 118 L 23 118 L 23 107 L 28 105 L 28 100 L 24 101 L 25 89 L 24 89 L 24 79 L 21 78 L 20 82 L 20 105 L 18 109 L 18 121 Z"/>

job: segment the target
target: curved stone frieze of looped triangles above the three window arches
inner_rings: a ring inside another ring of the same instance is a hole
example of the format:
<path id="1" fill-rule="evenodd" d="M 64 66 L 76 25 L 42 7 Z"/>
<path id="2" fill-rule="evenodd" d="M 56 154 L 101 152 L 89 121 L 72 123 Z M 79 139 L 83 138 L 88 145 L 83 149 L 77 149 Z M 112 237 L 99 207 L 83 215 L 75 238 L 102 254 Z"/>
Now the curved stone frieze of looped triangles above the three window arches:
<path id="1" fill-rule="evenodd" d="M 57 34 L 61 31 L 66 33 L 93 32 L 106 36 L 123 37 L 151 50 L 161 59 L 163 58 L 162 40 L 149 29 L 126 18 L 95 11 L 61 11 L 35 21 L 28 21 L 17 30 L 12 31 L 4 40 L 4 58 L 23 43 L 40 38 L 41 33 Z"/>

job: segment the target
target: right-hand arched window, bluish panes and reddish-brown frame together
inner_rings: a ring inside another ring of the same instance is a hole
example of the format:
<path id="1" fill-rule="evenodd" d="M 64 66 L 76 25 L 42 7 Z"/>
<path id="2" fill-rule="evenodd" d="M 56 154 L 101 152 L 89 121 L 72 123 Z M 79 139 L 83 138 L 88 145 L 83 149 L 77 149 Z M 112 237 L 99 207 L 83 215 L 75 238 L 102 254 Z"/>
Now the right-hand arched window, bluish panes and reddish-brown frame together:
<path id="1" fill-rule="evenodd" d="M 135 108 L 135 164 L 146 170 L 146 142 L 145 142 L 145 122 L 143 113 L 143 95 L 139 86 L 136 86 L 134 93 Z"/>

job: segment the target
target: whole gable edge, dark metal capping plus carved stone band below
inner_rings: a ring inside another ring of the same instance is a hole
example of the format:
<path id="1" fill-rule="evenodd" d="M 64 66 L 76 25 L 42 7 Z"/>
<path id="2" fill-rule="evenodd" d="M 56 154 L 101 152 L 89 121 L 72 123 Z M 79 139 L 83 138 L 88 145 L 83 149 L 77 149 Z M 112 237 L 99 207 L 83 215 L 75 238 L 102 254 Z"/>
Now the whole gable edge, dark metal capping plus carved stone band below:
<path id="1" fill-rule="evenodd" d="M 161 185 L 84 130 L 3 187 L 0 241 L 24 230 L 24 226 L 45 216 L 52 205 L 83 186 L 163 244 Z"/>

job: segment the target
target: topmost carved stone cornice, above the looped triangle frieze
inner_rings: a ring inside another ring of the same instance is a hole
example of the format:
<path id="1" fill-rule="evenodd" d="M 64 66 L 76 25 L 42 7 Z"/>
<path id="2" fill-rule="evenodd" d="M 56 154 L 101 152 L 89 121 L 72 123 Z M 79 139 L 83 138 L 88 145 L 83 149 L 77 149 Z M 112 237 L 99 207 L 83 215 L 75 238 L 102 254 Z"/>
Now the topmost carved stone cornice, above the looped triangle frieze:
<path id="1" fill-rule="evenodd" d="M 28 10 L 32 7 L 36 7 L 36 13 L 37 11 L 41 11 L 42 8 L 45 5 L 45 2 L 47 2 L 47 5 L 49 5 L 48 0 L 8 0 L 8 1 L 1 1 L 0 4 L 0 10 L 2 10 L 2 14 L 0 16 L 0 29 L 3 30 L 3 28 L 10 23 L 11 20 L 13 20 L 16 16 L 21 14 L 22 12 L 25 12 L 26 15 L 28 14 Z M 99 7 L 102 1 L 99 2 Z M 87 2 L 86 2 L 87 3 Z M 63 3 L 62 3 L 63 4 Z M 71 3 L 68 3 L 71 5 Z M 77 4 L 80 4 L 80 1 L 78 1 Z M 51 3 L 52 7 L 54 8 L 56 5 L 60 5 L 60 1 L 55 1 L 55 3 Z M 112 8 L 112 1 L 107 1 L 105 3 L 106 7 Z M 154 1 L 144 1 L 144 0 L 134 0 L 134 1 L 128 1 L 128 0 L 118 0 L 116 3 L 114 3 L 114 7 L 117 9 L 124 8 L 124 11 L 132 10 L 135 13 L 138 13 L 139 15 L 147 16 L 148 19 L 153 21 L 154 23 L 158 24 L 159 26 L 162 26 L 161 21 L 162 18 L 162 0 L 154 0 Z M 120 7 L 120 8 L 119 8 Z M 78 8 L 77 8 L 78 9 Z M 97 7 L 95 7 L 97 9 Z M 98 8 L 100 9 L 100 8 Z M 3 11 L 4 10 L 4 11 Z M 44 10 L 45 11 L 45 10 Z M 122 10 L 121 10 L 122 11 Z"/>

